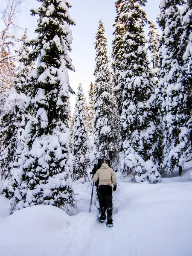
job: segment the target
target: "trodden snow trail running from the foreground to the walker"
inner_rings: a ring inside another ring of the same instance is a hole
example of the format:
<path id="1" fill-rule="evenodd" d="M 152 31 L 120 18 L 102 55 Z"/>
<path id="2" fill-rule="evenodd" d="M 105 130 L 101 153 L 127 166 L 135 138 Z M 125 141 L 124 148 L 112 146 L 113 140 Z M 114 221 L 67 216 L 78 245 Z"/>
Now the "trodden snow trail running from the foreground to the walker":
<path id="1" fill-rule="evenodd" d="M 108 228 L 105 223 L 99 223 L 97 220 L 97 207 L 99 205 L 95 198 L 95 188 L 92 211 L 88 213 L 90 190 L 87 190 L 86 186 L 84 186 L 84 192 L 81 193 L 82 198 L 79 198 L 79 209 L 81 209 L 82 212 L 73 216 L 73 218 L 77 218 L 79 222 L 76 227 L 74 226 L 73 231 L 71 230 L 70 241 L 72 241 L 72 243 L 64 248 L 64 253 L 67 252 L 68 256 L 116 256 L 120 255 L 123 250 L 126 251 L 127 256 L 141 255 L 131 237 L 131 230 L 128 228 L 128 219 L 124 218 L 126 211 L 122 211 L 127 204 L 127 200 L 122 199 L 119 193 L 120 190 L 116 195 L 113 195 L 114 201 L 118 202 L 117 205 L 114 204 L 113 210 L 113 220 L 115 224 L 112 228 Z M 87 210 L 87 212 L 85 212 L 85 210 Z M 76 254 L 76 252 L 78 252 L 78 254 Z"/>

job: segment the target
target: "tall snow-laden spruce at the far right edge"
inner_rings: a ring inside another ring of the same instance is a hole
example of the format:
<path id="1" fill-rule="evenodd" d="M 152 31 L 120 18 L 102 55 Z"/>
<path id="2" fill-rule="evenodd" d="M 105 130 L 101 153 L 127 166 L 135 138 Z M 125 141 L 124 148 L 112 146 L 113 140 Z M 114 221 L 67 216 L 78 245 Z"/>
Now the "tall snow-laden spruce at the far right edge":
<path id="1" fill-rule="evenodd" d="M 160 40 L 160 83 L 162 124 L 164 132 L 162 169 L 173 172 L 175 167 L 182 171 L 189 146 L 188 92 L 189 84 L 185 79 L 185 68 L 180 53 L 181 0 L 162 0 L 158 22 L 162 29 Z"/>

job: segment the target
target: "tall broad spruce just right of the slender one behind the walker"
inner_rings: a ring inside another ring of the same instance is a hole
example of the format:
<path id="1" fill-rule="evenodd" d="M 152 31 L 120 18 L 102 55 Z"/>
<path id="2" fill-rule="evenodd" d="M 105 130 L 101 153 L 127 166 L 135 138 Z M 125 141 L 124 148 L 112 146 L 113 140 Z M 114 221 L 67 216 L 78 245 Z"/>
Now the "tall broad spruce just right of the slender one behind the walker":
<path id="1" fill-rule="evenodd" d="M 160 181 L 157 171 L 161 155 L 160 129 L 143 31 L 148 22 L 142 8 L 146 0 L 127 0 L 124 3 L 126 61 L 123 61 L 122 72 L 119 73 L 124 88 L 120 117 L 123 151 L 121 169 L 122 172 L 133 172 L 137 182 L 148 180 L 157 183 Z"/>

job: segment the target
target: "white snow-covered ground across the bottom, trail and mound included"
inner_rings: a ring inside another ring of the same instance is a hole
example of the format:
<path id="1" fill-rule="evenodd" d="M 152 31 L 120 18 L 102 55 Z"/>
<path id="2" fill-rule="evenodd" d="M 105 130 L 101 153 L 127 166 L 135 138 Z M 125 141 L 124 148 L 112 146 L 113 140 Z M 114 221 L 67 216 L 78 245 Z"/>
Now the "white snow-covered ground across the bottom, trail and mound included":
<path id="1" fill-rule="evenodd" d="M 76 184 L 79 212 L 38 205 L 8 215 L 0 197 L 0 256 L 192 256 L 192 162 L 182 177 L 160 184 L 131 183 L 118 173 L 113 227 L 92 211 L 88 183 Z M 95 194 L 95 193 L 94 193 Z"/>

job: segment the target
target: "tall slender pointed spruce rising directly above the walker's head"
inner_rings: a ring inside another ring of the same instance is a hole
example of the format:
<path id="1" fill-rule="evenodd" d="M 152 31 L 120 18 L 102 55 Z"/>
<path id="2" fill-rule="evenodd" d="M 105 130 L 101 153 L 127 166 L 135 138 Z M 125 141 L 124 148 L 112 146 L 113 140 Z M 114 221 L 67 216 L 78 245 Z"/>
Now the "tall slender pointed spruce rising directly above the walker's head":
<path id="1" fill-rule="evenodd" d="M 96 33 L 96 67 L 94 71 L 94 158 L 108 158 L 113 166 L 118 162 L 118 132 L 114 118 L 115 99 L 112 93 L 111 72 L 107 56 L 107 39 L 99 21 Z M 114 168 L 113 167 L 113 168 Z"/>

